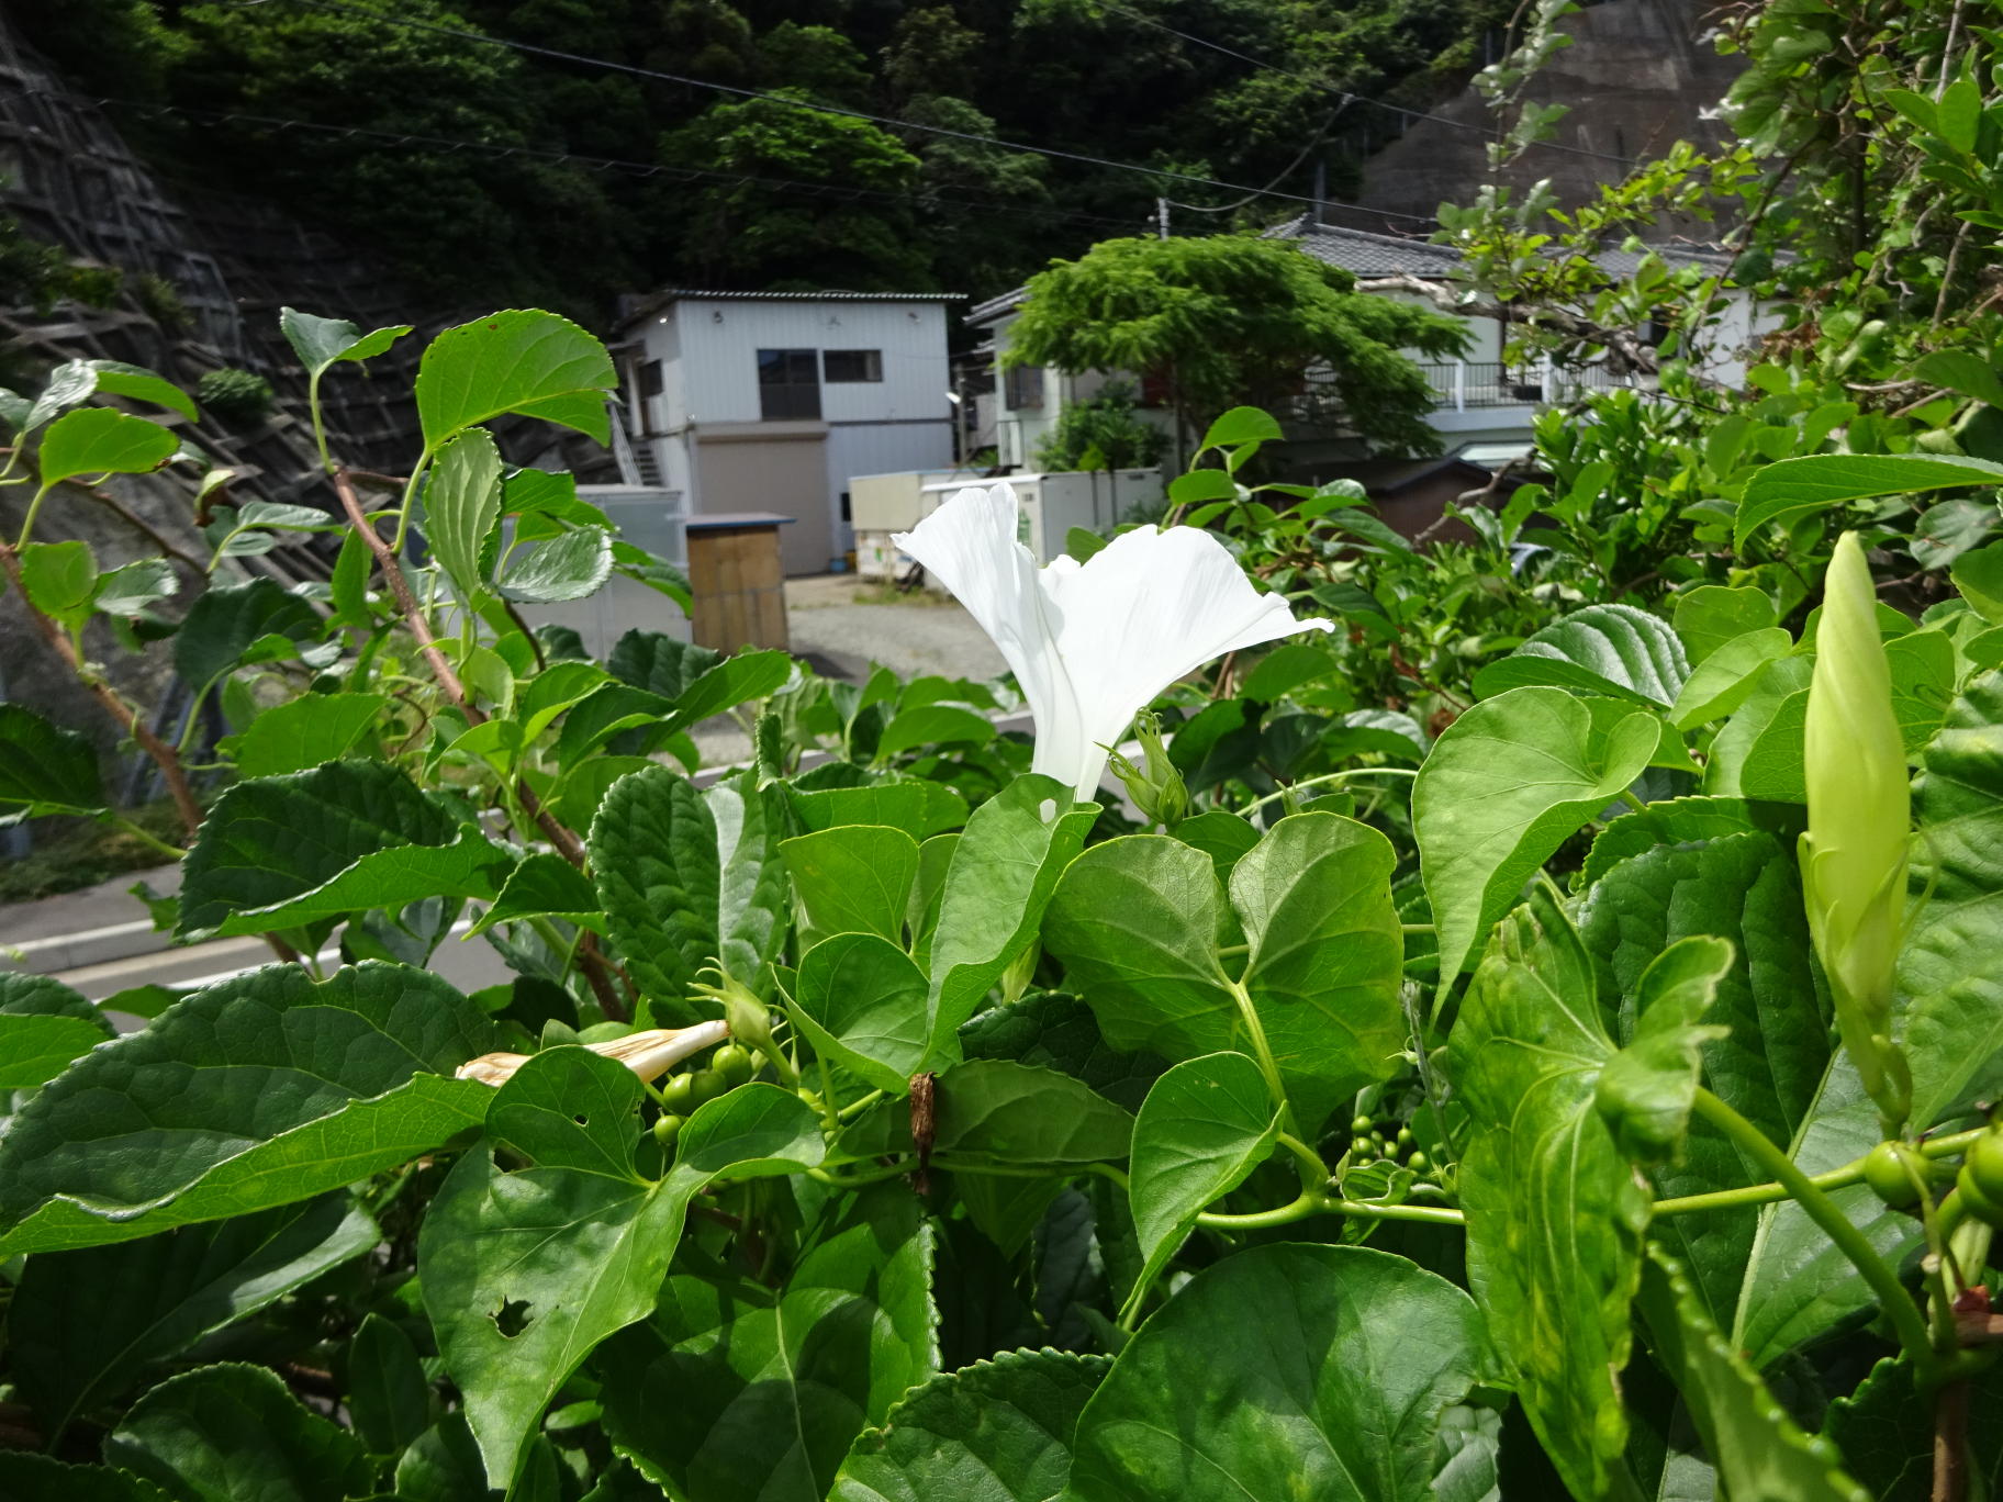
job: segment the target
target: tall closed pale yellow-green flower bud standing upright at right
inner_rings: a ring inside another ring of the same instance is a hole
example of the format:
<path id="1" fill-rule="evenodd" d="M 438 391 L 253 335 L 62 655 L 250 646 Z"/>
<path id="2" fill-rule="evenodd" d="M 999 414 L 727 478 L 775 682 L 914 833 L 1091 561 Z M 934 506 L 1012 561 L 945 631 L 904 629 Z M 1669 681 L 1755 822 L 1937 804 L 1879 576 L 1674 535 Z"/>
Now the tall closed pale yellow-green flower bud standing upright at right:
<path id="1" fill-rule="evenodd" d="M 1877 591 L 1855 533 L 1837 541 L 1823 583 L 1803 781 L 1809 931 L 1835 993 L 1843 1047 L 1893 1136 L 1913 1103 L 1905 1055 L 1891 1041 L 1913 807 Z"/>

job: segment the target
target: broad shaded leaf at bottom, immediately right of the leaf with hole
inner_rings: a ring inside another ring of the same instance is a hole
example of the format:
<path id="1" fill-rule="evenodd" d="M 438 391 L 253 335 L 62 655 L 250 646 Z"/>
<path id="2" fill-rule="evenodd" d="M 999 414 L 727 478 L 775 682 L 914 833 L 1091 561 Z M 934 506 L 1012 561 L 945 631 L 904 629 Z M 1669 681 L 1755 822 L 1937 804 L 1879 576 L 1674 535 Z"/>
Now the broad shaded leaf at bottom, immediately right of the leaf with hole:
<path id="1" fill-rule="evenodd" d="M 843 1204 L 783 1292 L 675 1276 L 599 1356 L 605 1428 L 681 1496 L 821 1502 L 853 1440 L 939 1366 L 933 1232 L 903 1186 Z"/>

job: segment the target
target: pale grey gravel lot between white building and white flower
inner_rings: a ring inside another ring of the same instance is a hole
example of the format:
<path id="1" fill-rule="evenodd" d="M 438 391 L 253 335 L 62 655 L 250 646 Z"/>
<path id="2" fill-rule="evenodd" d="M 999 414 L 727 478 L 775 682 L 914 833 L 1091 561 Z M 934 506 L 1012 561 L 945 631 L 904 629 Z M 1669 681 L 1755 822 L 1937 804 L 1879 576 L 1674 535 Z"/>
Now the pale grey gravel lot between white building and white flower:
<path id="1" fill-rule="evenodd" d="M 979 683 L 1008 671 L 987 633 L 951 599 L 897 599 L 855 575 L 787 579 L 785 623 L 795 657 L 851 683 L 869 677 L 871 663 L 903 679 L 941 673 Z M 727 715 L 697 725 L 693 735 L 705 767 L 751 755 L 749 737 Z"/>

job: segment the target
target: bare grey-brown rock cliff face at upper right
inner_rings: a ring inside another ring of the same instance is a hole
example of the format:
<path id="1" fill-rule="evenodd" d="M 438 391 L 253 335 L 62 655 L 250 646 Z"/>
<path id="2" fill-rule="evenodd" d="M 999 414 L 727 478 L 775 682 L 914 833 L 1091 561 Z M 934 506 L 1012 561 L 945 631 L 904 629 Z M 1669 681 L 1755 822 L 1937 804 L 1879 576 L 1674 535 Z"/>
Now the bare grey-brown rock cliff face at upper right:
<path id="1" fill-rule="evenodd" d="M 1544 64 L 1528 98 L 1570 108 L 1552 140 L 1574 150 L 1534 146 L 1492 172 L 1482 134 L 1420 120 L 1364 164 L 1358 202 L 1396 214 L 1432 214 L 1442 202 L 1466 202 L 1480 182 L 1522 192 L 1550 178 L 1560 202 L 1580 204 L 1600 184 L 1626 174 L 1618 158 L 1654 156 L 1675 140 L 1725 142 L 1727 128 L 1707 116 L 1741 64 L 1713 48 L 1713 12 L 1711 0 L 1612 0 L 1566 16 L 1560 28 L 1572 44 Z M 1432 114 L 1494 126 L 1472 88 Z"/>

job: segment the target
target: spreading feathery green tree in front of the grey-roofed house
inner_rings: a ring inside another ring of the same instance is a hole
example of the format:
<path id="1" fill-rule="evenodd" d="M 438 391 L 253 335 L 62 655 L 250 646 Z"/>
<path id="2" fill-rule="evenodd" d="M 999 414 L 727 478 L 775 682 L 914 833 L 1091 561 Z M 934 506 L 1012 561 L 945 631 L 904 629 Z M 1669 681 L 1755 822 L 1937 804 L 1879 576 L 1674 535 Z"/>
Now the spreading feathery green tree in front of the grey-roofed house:
<path id="1" fill-rule="evenodd" d="M 1284 407 L 1312 368 L 1326 368 L 1358 437 L 1434 453 L 1432 391 L 1400 350 L 1458 354 L 1466 332 L 1352 288 L 1346 270 L 1284 240 L 1102 240 L 1030 278 L 1004 358 L 1162 379 L 1198 427 L 1240 403 Z"/>

